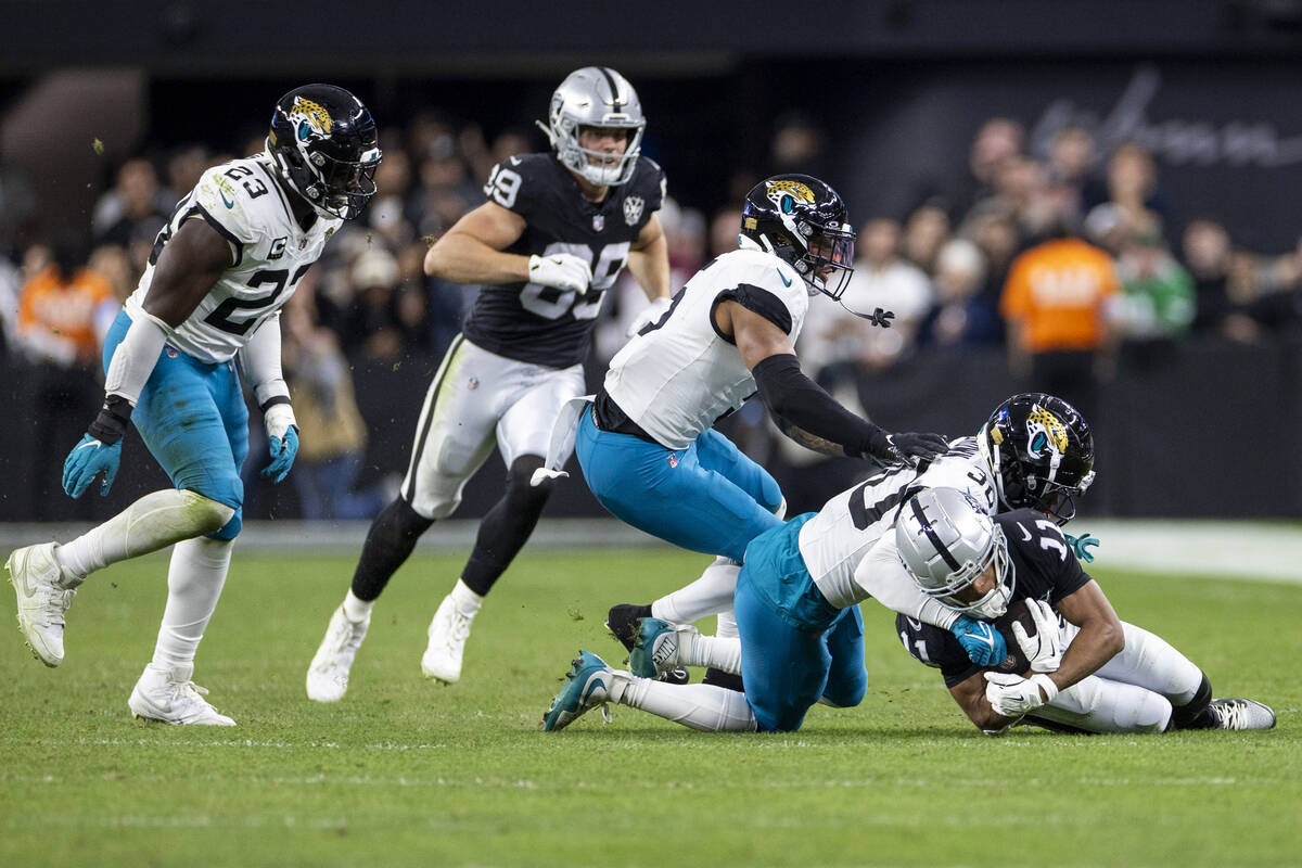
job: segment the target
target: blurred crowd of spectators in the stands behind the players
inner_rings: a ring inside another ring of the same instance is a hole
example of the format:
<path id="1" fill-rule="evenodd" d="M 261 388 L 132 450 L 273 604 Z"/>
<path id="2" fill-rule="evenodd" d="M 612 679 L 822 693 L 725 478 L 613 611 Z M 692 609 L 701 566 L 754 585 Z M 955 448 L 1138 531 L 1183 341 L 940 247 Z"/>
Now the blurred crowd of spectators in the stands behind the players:
<path id="1" fill-rule="evenodd" d="M 283 320 L 286 373 L 309 432 L 292 474 L 306 518 L 366 518 L 392 497 L 405 453 L 391 457 L 379 483 L 354 491 L 367 437 L 384 420 L 367 418 L 365 402 L 359 409 L 353 373 L 441 355 L 475 288 L 427 278 L 426 247 L 483 200 L 480 186 L 495 163 L 542 146 L 516 130 L 490 141 L 474 125 L 434 113 L 404 130 L 383 130 L 381 144 L 380 194 L 327 247 Z M 824 144 L 823 131 L 806 118 L 780 118 L 768 165 L 740 170 L 712 213 L 673 200 L 667 160 L 671 198 L 660 220 L 673 285 L 736 247 L 734 203 L 764 174 L 805 170 L 835 186 Z M 23 195 L 21 173 L 0 172 L 0 371 L 25 377 L 34 406 L 23 411 L 34 414 L 36 441 L 51 444 L 31 468 L 38 478 L 57 479 L 65 446 L 94 416 L 100 338 L 176 200 L 208 165 L 262 147 L 255 139 L 223 154 L 195 144 L 128 160 L 85 233 L 48 238 L 34 237 L 25 223 L 34 203 Z M 850 406 L 858 379 L 918 354 L 1005 346 L 1016 371 L 1073 398 L 1088 415 L 1090 389 L 1109 375 L 1120 347 L 1189 334 L 1262 342 L 1302 323 L 1302 245 L 1242 250 L 1216 215 L 1172 213 L 1160 168 L 1138 144 L 1100 154 L 1088 130 L 1066 128 L 1048 152 L 1030 154 L 1022 126 L 993 117 L 975 131 L 967 169 L 965 183 L 907 213 L 849 203 L 862 223 L 842 305 L 894 311 L 893 327 L 872 328 L 815 299 L 797 349 L 805 368 Z M 625 273 L 596 332 L 590 380 L 622 345 L 624 324 L 643 303 Z M 423 388 L 409 400 L 419 402 Z M 759 413 L 730 433 L 751 452 L 771 452 L 775 442 Z M 751 436 L 767 445 L 749 444 Z M 776 449 L 801 461 L 792 452 L 798 448 Z"/>

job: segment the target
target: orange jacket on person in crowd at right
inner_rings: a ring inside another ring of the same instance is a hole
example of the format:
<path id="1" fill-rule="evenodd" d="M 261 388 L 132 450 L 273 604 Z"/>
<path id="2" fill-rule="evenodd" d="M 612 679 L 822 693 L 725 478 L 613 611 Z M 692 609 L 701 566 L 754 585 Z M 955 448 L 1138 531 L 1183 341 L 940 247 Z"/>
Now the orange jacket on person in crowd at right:
<path id="1" fill-rule="evenodd" d="M 999 310 L 1027 353 L 1094 350 L 1107 338 L 1105 302 L 1121 292 L 1112 258 L 1079 238 L 1031 247 L 1009 269 Z"/>

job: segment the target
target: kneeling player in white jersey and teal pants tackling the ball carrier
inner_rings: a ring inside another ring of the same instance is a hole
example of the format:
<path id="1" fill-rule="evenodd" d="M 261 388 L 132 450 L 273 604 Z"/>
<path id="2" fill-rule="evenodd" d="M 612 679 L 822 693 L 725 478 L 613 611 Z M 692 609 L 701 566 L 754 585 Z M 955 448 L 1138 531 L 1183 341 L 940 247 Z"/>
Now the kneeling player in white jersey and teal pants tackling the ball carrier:
<path id="1" fill-rule="evenodd" d="M 799 727 L 815 701 L 857 705 L 867 685 L 857 604 L 870 596 L 952 635 L 973 661 L 995 665 L 1008 656 L 1006 643 L 980 616 L 1001 613 L 1008 588 L 991 588 L 973 612 L 924 593 L 896 548 L 901 505 L 919 491 L 945 485 L 987 513 L 1029 506 L 1066 521 L 1094 479 L 1092 466 L 1092 435 L 1069 403 L 1039 393 L 1013 396 L 976 437 L 954 440 L 945 454 L 917 467 L 884 470 L 818 513 L 751 541 L 733 595 L 740 640 L 641 618 L 631 671 L 613 671 L 581 651 L 543 727 L 561 729 L 591 708 L 620 703 L 695 729 L 786 731 Z M 741 674 L 745 692 L 655 681 L 676 666 Z"/>

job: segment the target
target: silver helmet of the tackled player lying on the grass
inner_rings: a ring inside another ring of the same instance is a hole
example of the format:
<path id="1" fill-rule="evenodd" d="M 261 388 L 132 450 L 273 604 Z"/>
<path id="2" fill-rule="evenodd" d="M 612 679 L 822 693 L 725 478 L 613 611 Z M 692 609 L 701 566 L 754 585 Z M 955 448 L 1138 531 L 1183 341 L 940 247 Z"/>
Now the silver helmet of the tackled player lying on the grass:
<path id="1" fill-rule="evenodd" d="M 896 521 L 896 549 L 918 588 L 943 605 L 995 619 L 1008 612 L 1017 586 L 1004 528 L 957 488 L 926 488 Z M 978 600 L 960 595 L 995 565 L 996 584 Z"/>

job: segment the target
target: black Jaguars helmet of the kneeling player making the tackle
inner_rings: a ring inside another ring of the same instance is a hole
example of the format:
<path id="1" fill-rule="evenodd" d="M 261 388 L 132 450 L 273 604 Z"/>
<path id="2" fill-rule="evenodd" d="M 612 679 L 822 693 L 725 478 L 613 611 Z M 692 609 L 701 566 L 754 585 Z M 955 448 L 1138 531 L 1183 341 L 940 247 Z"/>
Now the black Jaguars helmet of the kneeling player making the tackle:
<path id="1" fill-rule="evenodd" d="M 1062 398 L 1014 394 L 995 407 L 976 448 L 1008 509 L 1034 509 L 1059 524 L 1075 515 L 1075 498 L 1094 481 L 1094 433 Z"/>

